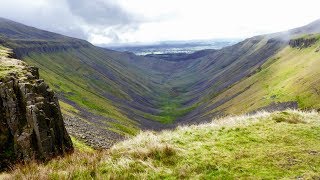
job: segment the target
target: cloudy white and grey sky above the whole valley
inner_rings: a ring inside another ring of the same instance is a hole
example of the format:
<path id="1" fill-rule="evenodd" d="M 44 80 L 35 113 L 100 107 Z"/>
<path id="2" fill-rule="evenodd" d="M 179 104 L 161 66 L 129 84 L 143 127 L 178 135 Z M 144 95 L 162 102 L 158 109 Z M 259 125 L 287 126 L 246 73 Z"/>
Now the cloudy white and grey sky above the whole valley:
<path id="1" fill-rule="evenodd" d="M 96 45 L 246 38 L 320 18 L 319 0 L 0 0 L 0 17 Z"/>

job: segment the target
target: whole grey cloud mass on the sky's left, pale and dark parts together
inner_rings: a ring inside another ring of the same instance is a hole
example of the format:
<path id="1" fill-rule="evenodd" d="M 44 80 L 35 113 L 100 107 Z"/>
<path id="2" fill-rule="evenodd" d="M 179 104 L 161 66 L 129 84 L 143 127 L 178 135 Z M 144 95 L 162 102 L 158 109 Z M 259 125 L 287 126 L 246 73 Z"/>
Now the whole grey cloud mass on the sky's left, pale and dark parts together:
<path id="1" fill-rule="evenodd" d="M 147 22 L 115 0 L 10 0 L 1 2 L 0 17 L 80 39 L 101 35 L 114 43 Z"/>

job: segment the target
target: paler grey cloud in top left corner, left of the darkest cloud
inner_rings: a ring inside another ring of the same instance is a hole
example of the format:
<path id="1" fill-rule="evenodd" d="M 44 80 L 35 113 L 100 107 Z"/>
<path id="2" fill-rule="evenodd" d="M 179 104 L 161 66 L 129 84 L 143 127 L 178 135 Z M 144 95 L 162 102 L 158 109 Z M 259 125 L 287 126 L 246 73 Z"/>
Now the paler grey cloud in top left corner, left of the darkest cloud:
<path id="1" fill-rule="evenodd" d="M 65 0 L 1 2 L 0 17 L 67 36 L 88 38 L 88 34 L 79 26 L 79 20 L 70 13 Z"/>

